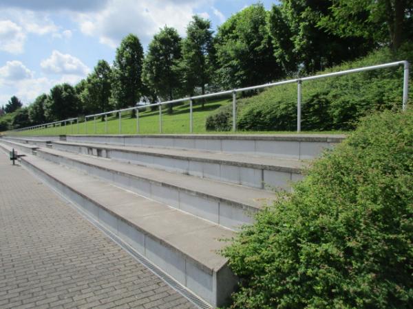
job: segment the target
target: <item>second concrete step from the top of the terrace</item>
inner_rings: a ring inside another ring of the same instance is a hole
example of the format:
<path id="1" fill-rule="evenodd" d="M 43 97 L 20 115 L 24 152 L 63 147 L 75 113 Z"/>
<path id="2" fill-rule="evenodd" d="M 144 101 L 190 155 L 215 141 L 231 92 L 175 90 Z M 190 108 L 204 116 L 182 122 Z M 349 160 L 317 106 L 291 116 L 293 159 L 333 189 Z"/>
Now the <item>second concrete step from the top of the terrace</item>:
<path id="1" fill-rule="evenodd" d="M 53 149 L 94 155 L 265 190 L 290 190 L 308 163 L 257 155 L 53 141 Z"/>

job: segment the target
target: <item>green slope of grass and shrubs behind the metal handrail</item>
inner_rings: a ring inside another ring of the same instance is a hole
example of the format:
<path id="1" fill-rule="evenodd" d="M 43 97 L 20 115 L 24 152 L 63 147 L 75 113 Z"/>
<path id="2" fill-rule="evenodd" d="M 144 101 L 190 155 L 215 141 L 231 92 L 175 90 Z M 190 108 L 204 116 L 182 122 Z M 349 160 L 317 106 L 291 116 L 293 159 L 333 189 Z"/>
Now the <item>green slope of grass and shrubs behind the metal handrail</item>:
<path id="1" fill-rule="evenodd" d="M 383 48 L 356 61 L 343 63 L 318 72 L 329 73 L 366 67 L 396 60 L 413 62 L 413 44 L 407 44 L 396 54 Z M 413 102 L 413 69 L 410 71 L 410 103 Z M 290 78 L 295 78 L 290 77 Z M 353 130 L 358 120 L 385 109 L 399 110 L 403 93 L 403 67 L 354 73 L 335 78 L 323 78 L 302 84 L 302 123 L 304 132 L 342 132 Z M 237 100 L 237 128 L 243 133 L 295 132 L 297 129 L 297 84 L 271 87 L 256 95 Z M 174 106 L 173 114 L 162 113 L 162 133 L 189 133 L 189 103 Z M 193 133 L 222 133 L 232 128 L 231 98 L 208 100 L 201 108 L 193 106 Z M 105 122 L 96 122 L 96 134 L 136 134 L 136 119 L 123 113 L 121 131 L 115 115 Z M 24 134 L 94 134 L 92 119 L 66 127 L 32 130 Z M 159 133 L 158 111 L 140 112 L 142 134 Z"/>

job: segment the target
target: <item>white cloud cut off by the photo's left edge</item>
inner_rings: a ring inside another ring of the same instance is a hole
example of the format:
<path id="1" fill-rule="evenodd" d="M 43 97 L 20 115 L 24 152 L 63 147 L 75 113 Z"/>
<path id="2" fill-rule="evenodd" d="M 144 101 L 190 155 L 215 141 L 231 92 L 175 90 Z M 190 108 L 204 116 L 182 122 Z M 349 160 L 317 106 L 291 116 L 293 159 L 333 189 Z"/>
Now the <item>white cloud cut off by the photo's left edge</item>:
<path id="1" fill-rule="evenodd" d="M 23 29 L 10 20 L 0 21 L 0 50 L 21 54 L 25 42 Z"/>

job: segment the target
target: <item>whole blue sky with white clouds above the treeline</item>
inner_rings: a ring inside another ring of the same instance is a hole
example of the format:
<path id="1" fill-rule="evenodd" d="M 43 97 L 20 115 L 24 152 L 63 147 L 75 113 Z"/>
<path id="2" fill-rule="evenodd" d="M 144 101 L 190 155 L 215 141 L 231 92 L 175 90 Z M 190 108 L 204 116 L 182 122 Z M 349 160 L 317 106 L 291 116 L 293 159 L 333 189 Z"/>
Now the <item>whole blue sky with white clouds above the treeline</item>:
<path id="1" fill-rule="evenodd" d="M 276 1 L 261 1 L 269 9 Z M 146 49 L 160 27 L 184 36 L 193 14 L 214 30 L 257 0 L 0 0 L 0 105 L 27 105 L 54 84 L 76 84 L 99 59 L 112 64 L 129 33 Z"/>

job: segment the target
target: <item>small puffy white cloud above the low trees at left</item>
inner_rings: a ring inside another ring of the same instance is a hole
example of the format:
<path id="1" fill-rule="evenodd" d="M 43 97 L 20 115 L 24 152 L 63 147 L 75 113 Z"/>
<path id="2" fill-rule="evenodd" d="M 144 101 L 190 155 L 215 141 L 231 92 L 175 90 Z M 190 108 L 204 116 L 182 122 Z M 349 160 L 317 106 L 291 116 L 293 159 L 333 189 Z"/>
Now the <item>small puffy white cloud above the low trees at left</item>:
<path id="1" fill-rule="evenodd" d="M 78 58 L 57 50 L 54 50 L 49 58 L 42 60 L 40 66 L 46 73 L 64 75 L 85 76 L 90 71 Z"/>

